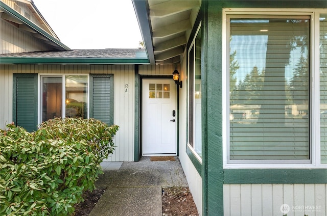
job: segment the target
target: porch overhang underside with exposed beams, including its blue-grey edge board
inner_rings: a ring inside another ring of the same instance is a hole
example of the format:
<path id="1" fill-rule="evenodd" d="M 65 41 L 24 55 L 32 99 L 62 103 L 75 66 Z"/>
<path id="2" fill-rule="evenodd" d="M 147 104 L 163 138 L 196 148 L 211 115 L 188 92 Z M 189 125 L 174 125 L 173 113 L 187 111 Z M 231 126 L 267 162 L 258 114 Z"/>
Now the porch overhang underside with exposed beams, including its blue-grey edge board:
<path id="1" fill-rule="evenodd" d="M 150 62 L 179 63 L 201 0 L 132 1 Z"/>

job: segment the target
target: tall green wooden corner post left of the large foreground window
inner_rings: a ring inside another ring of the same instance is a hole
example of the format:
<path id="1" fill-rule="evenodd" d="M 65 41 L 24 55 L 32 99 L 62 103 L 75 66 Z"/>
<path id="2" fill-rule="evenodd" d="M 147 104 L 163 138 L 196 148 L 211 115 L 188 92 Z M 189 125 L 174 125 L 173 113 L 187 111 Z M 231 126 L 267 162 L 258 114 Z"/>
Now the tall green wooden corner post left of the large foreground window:
<path id="1" fill-rule="evenodd" d="M 203 215 L 224 215 L 223 201 L 223 125 L 222 125 L 222 8 L 225 4 L 221 1 L 207 1 L 205 6 L 206 23 L 204 24 L 204 41 L 206 47 L 206 129 L 207 151 L 205 169 L 207 184 L 204 195 L 206 209 Z"/>

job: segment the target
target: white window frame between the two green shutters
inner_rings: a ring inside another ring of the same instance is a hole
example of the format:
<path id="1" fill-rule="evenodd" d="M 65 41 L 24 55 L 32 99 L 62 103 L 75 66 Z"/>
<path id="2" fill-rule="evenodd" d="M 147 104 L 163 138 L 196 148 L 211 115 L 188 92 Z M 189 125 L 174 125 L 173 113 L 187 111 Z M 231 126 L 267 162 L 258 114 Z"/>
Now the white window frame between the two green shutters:
<path id="1" fill-rule="evenodd" d="M 90 76 L 89 74 L 83 74 L 83 73 L 39 73 L 38 74 L 38 119 L 37 122 L 38 124 L 42 123 L 42 108 L 41 108 L 41 104 L 42 104 L 42 77 L 61 77 L 62 78 L 62 104 L 65 104 L 65 91 L 66 91 L 66 76 L 86 76 L 87 77 L 87 119 L 90 118 L 90 110 L 89 110 L 89 106 L 90 106 Z M 62 107 L 62 118 L 65 118 L 65 109 L 63 109 L 64 107 Z"/>

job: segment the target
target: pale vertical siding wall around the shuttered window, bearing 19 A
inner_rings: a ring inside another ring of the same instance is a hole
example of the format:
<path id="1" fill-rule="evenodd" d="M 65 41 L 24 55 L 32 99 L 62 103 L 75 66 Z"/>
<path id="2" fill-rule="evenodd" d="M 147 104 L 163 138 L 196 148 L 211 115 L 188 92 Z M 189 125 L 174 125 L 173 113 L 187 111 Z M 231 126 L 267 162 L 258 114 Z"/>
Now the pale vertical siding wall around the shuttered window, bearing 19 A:
<path id="1" fill-rule="evenodd" d="M 0 128 L 12 122 L 13 73 L 113 74 L 115 150 L 108 161 L 134 160 L 134 65 L 0 65 Z"/>

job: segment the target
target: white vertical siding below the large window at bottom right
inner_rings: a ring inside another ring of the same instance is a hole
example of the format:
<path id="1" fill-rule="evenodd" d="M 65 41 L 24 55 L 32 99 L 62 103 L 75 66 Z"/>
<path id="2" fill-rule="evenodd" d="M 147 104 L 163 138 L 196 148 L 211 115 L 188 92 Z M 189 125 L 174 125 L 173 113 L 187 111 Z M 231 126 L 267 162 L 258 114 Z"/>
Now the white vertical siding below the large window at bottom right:
<path id="1" fill-rule="evenodd" d="M 327 184 L 224 184 L 224 215 L 327 215 Z M 285 209 L 286 210 L 286 209 Z"/>

